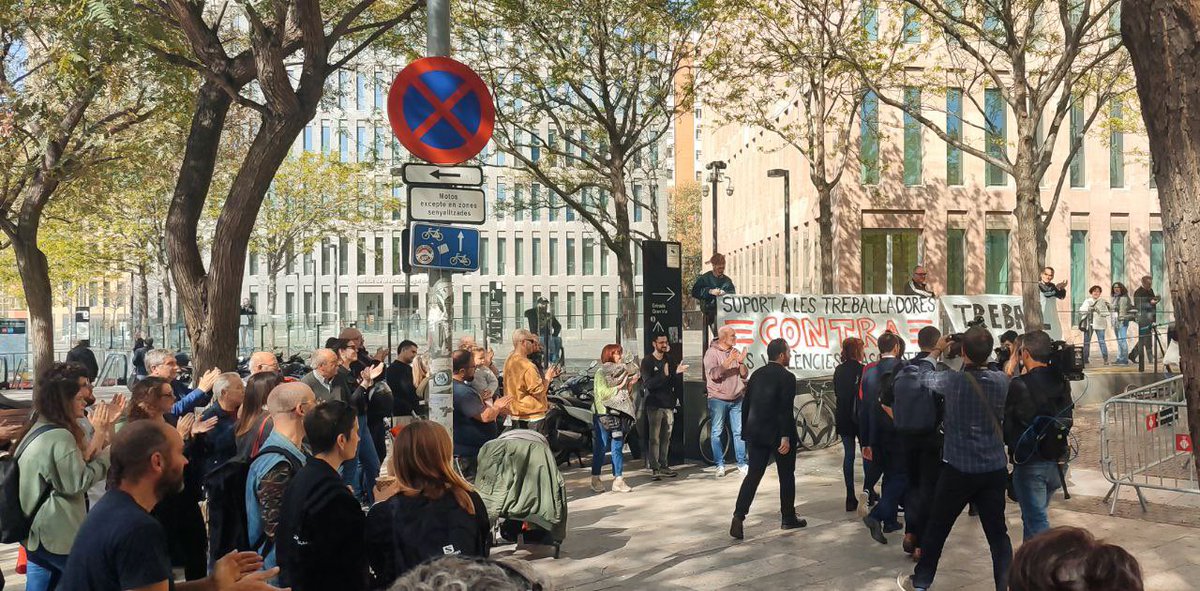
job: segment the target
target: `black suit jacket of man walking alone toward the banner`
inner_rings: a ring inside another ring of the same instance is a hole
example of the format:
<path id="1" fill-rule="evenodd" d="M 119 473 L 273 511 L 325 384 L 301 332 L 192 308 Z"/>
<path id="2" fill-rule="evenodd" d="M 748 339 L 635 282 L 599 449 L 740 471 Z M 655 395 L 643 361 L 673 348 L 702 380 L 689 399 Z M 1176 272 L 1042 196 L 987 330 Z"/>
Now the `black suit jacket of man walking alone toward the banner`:
<path id="1" fill-rule="evenodd" d="M 768 363 L 750 375 L 742 400 L 742 440 L 746 443 L 778 447 L 788 437 L 792 446 L 800 438 L 792 411 L 796 376 L 778 363 Z"/>

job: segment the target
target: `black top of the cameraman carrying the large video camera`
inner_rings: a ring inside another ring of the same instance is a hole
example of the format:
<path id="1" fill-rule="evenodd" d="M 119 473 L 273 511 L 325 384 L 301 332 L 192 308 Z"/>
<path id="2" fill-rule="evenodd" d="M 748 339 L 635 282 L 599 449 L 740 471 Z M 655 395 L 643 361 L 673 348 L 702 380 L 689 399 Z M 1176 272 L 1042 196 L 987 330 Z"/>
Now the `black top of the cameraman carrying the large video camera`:
<path id="1" fill-rule="evenodd" d="M 1061 459 L 1067 452 L 1066 431 L 1073 418 L 1070 383 L 1058 370 L 1034 368 L 1014 377 L 1004 399 L 1004 444 L 1009 459 L 1014 464 Z M 1062 437 L 1060 430 L 1064 431 Z"/>

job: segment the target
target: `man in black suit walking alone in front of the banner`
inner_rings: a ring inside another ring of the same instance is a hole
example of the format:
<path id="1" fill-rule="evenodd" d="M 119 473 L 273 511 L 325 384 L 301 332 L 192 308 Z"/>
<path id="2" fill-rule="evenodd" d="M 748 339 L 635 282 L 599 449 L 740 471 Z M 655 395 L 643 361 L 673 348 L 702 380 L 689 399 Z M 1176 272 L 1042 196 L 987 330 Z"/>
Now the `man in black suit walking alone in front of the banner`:
<path id="1" fill-rule="evenodd" d="M 775 339 L 767 345 L 764 368 L 755 371 L 746 384 L 742 402 L 742 438 L 750 456 L 750 473 L 742 480 L 738 505 L 733 509 L 730 536 L 742 539 L 742 524 L 750 512 L 750 502 L 758 490 L 767 462 L 775 456 L 779 470 L 779 511 L 784 515 L 782 530 L 804 527 L 808 521 L 796 517 L 796 419 L 792 414 L 796 398 L 796 376 L 787 370 L 787 341 Z"/>

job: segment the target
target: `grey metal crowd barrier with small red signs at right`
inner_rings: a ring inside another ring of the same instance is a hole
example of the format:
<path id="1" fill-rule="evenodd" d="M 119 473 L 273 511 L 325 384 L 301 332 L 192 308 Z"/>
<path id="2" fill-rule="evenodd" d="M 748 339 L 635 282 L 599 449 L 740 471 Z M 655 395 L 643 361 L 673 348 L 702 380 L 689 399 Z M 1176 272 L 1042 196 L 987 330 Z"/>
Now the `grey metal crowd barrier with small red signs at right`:
<path id="1" fill-rule="evenodd" d="M 1100 471 L 1112 486 L 1104 501 L 1116 511 L 1121 486 L 1200 494 L 1188 432 L 1183 376 L 1118 394 L 1100 410 Z"/>

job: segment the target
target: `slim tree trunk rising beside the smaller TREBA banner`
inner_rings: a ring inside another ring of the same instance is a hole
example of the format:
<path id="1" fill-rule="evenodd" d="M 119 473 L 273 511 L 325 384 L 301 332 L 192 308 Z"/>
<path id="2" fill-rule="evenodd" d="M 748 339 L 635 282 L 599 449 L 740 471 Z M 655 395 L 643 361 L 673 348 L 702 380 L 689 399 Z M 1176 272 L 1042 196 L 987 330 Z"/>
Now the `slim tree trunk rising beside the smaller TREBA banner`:
<path id="1" fill-rule="evenodd" d="M 1045 327 L 1042 317 L 1042 294 L 1038 277 L 1045 267 L 1045 229 L 1042 227 L 1042 191 L 1031 178 L 1016 179 L 1016 267 L 1020 270 L 1021 306 L 1025 308 L 1025 329 L 1040 330 Z M 1040 245 L 1040 246 L 1039 246 Z M 986 270 L 985 270 L 986 273 Z"/>

